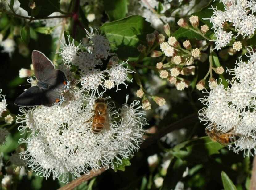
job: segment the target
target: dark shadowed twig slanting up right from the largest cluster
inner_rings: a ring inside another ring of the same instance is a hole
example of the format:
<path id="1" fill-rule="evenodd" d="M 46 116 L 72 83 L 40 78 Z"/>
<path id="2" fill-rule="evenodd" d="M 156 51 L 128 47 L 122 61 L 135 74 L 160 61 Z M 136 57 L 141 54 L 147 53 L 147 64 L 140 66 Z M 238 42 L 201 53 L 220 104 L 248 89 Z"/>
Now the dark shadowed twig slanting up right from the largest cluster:
<path id="1" fill-rule="evenodd" d="M 165 136 L 167 133 L 170 133 L 174 130 L 184 128 L 188 125 L 191 125 L 198 121 L 198 117 L 196 113 L 193 113 L 183 119 L 180 119 L 179 121 L 176 121 L 170 125 L 167 125 L 163 129 L 159 130 L 157 133 L 155 133 L 152 137 L 147 138 L 140 146 L 141 149 L 147 148 L 151 144 L 155 143 L 157 140 L 159 140 L 161 137 Z"/>

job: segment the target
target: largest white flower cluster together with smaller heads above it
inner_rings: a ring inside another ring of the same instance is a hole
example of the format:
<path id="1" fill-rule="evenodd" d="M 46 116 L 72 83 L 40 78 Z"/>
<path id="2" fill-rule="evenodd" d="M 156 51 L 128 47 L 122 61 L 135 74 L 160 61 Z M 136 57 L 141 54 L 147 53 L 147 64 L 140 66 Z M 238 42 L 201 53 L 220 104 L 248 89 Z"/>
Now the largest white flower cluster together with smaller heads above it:
<path id="1" fill-rule="evenodd" d="M 122 164 L 122 159 L 129 159 L 139 149 L 143 126 L 147 124 L 140 102 L 128 105 L 128 96 L 119 109 L 110 97 L 103 98 L 107 104 L 106 116 L 100 115 L 94 122 L 95 102 L 105 92 L 102 81 L 108 77 L 116 86 L 125 84 L 125 80 L 130 81 L 128 73 L 133 71 L 125 68 L 124 63 L 118 64 L 116 58 L 109 70 L 101 71 L 101 58 L 108 57 L 109 42 L 104 36 L 94 34 L 92 29 L 88 34 L 90 41 L 86 46 L 75 45 L 69 39 L 69 44 L 64 44 L 59 52 L 65 66 L 60 69 L 64 68 L 65 73 L 69 70 L 67 77 L 76 75 L 76 82 L 70 82 L 71 90 L 64 92 L 63 104 L 20 107 L 22 114 L 16 120 L 20 124 L 19 131 L 30 131 L 26 139 L 19 140 L 27 144 L 27 150 L 20 153 L 21 158 L 27 160 L 27 165 L 37 175 L 45 178 L 52 175 L 53 179 L 64 183 L 68 182 L 69 174 L 79 177 L 89 174 L 91 169 Z M 84 49 L 87 51 L 83 52 Z M 71 66 L 76 67 L 76 72 L 71 72 Z M 98 93 L 100 86 L 103 93 Z M 102 123 L 103 119 L 109 127 Z M 103 129 L 93 133 L 93 123 L 103 124 Z"/>

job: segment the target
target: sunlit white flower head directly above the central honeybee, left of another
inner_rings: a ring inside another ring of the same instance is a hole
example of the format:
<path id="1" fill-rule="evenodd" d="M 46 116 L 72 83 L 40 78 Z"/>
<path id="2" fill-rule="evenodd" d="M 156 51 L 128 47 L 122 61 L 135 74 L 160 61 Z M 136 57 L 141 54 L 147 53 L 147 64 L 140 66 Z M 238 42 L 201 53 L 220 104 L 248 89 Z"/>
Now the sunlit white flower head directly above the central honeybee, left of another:
<path id="1" fill-rule="evenodd" d="M 100 69 L 86 69 L 81 74 L 81 85 L 83 90 L 93 90 L 98 92 L 99 86 L 103 87 L 105 80 L 104 71 Z"/>

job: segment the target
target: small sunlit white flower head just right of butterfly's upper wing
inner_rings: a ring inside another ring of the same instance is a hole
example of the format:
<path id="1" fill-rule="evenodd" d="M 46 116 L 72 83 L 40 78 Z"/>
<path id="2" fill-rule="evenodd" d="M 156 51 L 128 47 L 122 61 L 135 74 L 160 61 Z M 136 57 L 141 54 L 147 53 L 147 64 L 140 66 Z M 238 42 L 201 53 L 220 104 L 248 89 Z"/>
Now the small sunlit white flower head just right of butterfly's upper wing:
<path id="1" fill-rule="evenodd" d="M 71 42 L 70 36 L 68 36 L 68 44 L 62 43 L 62 45 L 63 47 L 60 48 L 61 52 L 58 53 L 61 55 L 63 62 L 65 64 L 74 65 L 76 56 L 78 56 L 78 51 L 80 50 L 81 43 L 78 46 L 76 46 L 75 40 L 73 39 Z"/>

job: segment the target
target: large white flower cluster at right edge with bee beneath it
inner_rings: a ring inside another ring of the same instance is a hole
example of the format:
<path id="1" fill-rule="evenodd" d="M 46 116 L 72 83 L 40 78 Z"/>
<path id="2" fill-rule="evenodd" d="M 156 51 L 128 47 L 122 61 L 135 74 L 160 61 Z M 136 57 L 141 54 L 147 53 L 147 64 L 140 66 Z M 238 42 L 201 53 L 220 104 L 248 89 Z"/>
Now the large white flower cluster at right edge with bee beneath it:
<path id="1" fill-rule="evenodd" d="M 199 118 L 206 122 L 206 129 L 241 136 L 229 148 L 234 152 L 242 150 L 245 156 L 256 153 L 256 53 L 247 50 L 249 61 L 244 62 L 240 57 L 236 67 L 228 69 L 233 74 L 229 87 L 209 83 L 210 92 L 200 99 L 206 107 L 199 111 Z"/>

